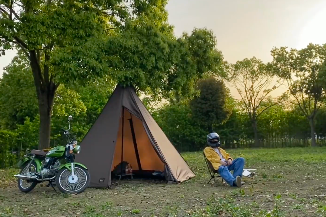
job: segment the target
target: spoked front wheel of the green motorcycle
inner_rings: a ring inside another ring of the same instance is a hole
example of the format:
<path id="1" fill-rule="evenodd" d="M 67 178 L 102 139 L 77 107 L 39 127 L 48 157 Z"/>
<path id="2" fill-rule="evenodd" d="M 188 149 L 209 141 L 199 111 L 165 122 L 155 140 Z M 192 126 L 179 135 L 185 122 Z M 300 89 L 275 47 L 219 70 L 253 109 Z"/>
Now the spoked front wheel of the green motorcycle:
<path id="1" fill-rule="evenodd" d="M 75 165 L 74 179 L 72 179 L 71 170 L 65 167 L 58 171 L 55 179 L 56 186 L 62 193 L 66 194 L 79 194 L 84 192 L 90 181 L 88 170 L 79 165 Z"/>

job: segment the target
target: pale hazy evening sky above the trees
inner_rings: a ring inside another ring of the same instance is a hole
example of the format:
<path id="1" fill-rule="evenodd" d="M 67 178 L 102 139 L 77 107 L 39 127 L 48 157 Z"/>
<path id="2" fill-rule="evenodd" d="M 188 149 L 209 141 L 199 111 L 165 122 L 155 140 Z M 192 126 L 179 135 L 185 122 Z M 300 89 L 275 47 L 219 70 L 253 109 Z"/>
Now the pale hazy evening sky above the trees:
<path id="1" fill-rule="evenodd" d="M 253 56 L 271 61 L 273 47 L 326 43 L 325 0 L 170 0 L 167 10 L 177 36 L 194 27 L 212 29 L 217 48 L 231 63 Z M 0 76 L 15 55 L 6 53 Z"/>

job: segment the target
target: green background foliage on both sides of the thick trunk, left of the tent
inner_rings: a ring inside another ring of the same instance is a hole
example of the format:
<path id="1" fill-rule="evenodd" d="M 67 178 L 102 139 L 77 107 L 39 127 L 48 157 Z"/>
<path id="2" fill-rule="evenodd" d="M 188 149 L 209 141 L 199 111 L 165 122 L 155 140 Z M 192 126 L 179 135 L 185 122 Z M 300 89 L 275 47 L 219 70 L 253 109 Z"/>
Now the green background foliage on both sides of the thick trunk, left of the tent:
<path id="1" fill-rule="evenodd" d="M 17 56 L 6 68 L 0 80 L 0 142 L 1 167 L 13 166 L 21 151 L 37 149 L 40 118 L 37 96 L 30 68 L 22 64 L 25 58 Z M 67 116 L 73 115 L 72 132 L 81 140 L 107 102 L 114 84 L 106 77 L 88 82 L 82 87 L 60 85 L 54 100 L 51 146 L 64 144 L 62 128 L 67 127 Z M 2 130 L 1 130 L 2 129 Z M 10 131 L 9 131 L 10 130 Z M 11 154 L 12 151 L 17 152 Z"/>

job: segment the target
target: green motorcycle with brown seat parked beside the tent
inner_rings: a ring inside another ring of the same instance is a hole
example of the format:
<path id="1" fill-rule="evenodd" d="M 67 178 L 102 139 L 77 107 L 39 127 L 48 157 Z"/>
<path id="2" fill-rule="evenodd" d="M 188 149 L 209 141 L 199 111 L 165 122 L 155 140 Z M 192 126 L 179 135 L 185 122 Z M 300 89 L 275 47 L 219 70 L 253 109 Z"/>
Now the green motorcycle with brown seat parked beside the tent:
<path id="1" fill-rule="evenodd" d="M 69 142 L 66 146 L 57 146 L 52 149 L 26 150 L 26 155 L 19 161 L 20 174 L 14 175 L 18 178 L 18 188 L 22 192 L 30 192 L 38 183 L 49 182 L 55 185 L 63 193 L 79 194 L 85 191 L 90 183 L 90 175 L 87 168 L 74 162 L 75 155 L 81 151 L 81 146 L 70 137 L 69 129 L 64 130 Z M 54 187 L 53 187 L 54 189 Z M 54 189 L 55 190 L 55 189 Z"/>

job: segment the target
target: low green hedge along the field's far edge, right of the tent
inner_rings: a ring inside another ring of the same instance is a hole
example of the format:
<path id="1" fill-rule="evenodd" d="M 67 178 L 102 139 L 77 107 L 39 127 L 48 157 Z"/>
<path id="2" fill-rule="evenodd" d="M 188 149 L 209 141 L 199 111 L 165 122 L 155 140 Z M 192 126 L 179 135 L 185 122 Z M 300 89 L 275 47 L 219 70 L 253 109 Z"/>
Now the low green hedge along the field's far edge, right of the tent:
<path id="1" fill-rule="evenodd" d="M 264 102 L 263 104 L 270 102 Z M 324 111 L 318 116 L 323 118 Z M 153 112 L 153 117 L 179 151 L 202 150 L 206 146 L 207 126 L 194 120 L 187 104 L 166 104 Z M 319 119 L 319 118 L 318 118 Z M 325 145 L 325 123 L 318 122 L 319 145 Z M 283 104 L 268 108 L 257 120 L 259 147 L 304 147 L 310 145 L 309 123 L 299 108 L 288 110 Z M 254 133 L 246 113 L 236 107 L 229 119 L 214 129 L 227 148 L 253 147 Z"/>

